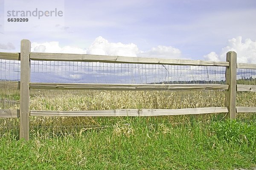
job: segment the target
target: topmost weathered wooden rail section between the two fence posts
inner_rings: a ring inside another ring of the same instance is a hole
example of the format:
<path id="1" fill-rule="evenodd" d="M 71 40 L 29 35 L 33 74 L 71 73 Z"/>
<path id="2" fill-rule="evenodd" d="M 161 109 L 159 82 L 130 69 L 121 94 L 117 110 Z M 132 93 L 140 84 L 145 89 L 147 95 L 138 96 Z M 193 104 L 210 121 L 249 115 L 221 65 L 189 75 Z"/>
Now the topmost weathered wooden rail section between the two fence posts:
<path id="1" fill-rule="evenodd" d="M 91 54 L 30 53 L 30 59 L 46 60 L 46 61 L 81 61 L 81 62 L 114 62 L 114 63 L 140 63 L 140 64 L 229 66 L 229 62 L 186 60 L 186 59 L 157 59 L 157 58 L 143 58 L 143 57 L 103 56 L 103 55 L 91 55 Z"/>

